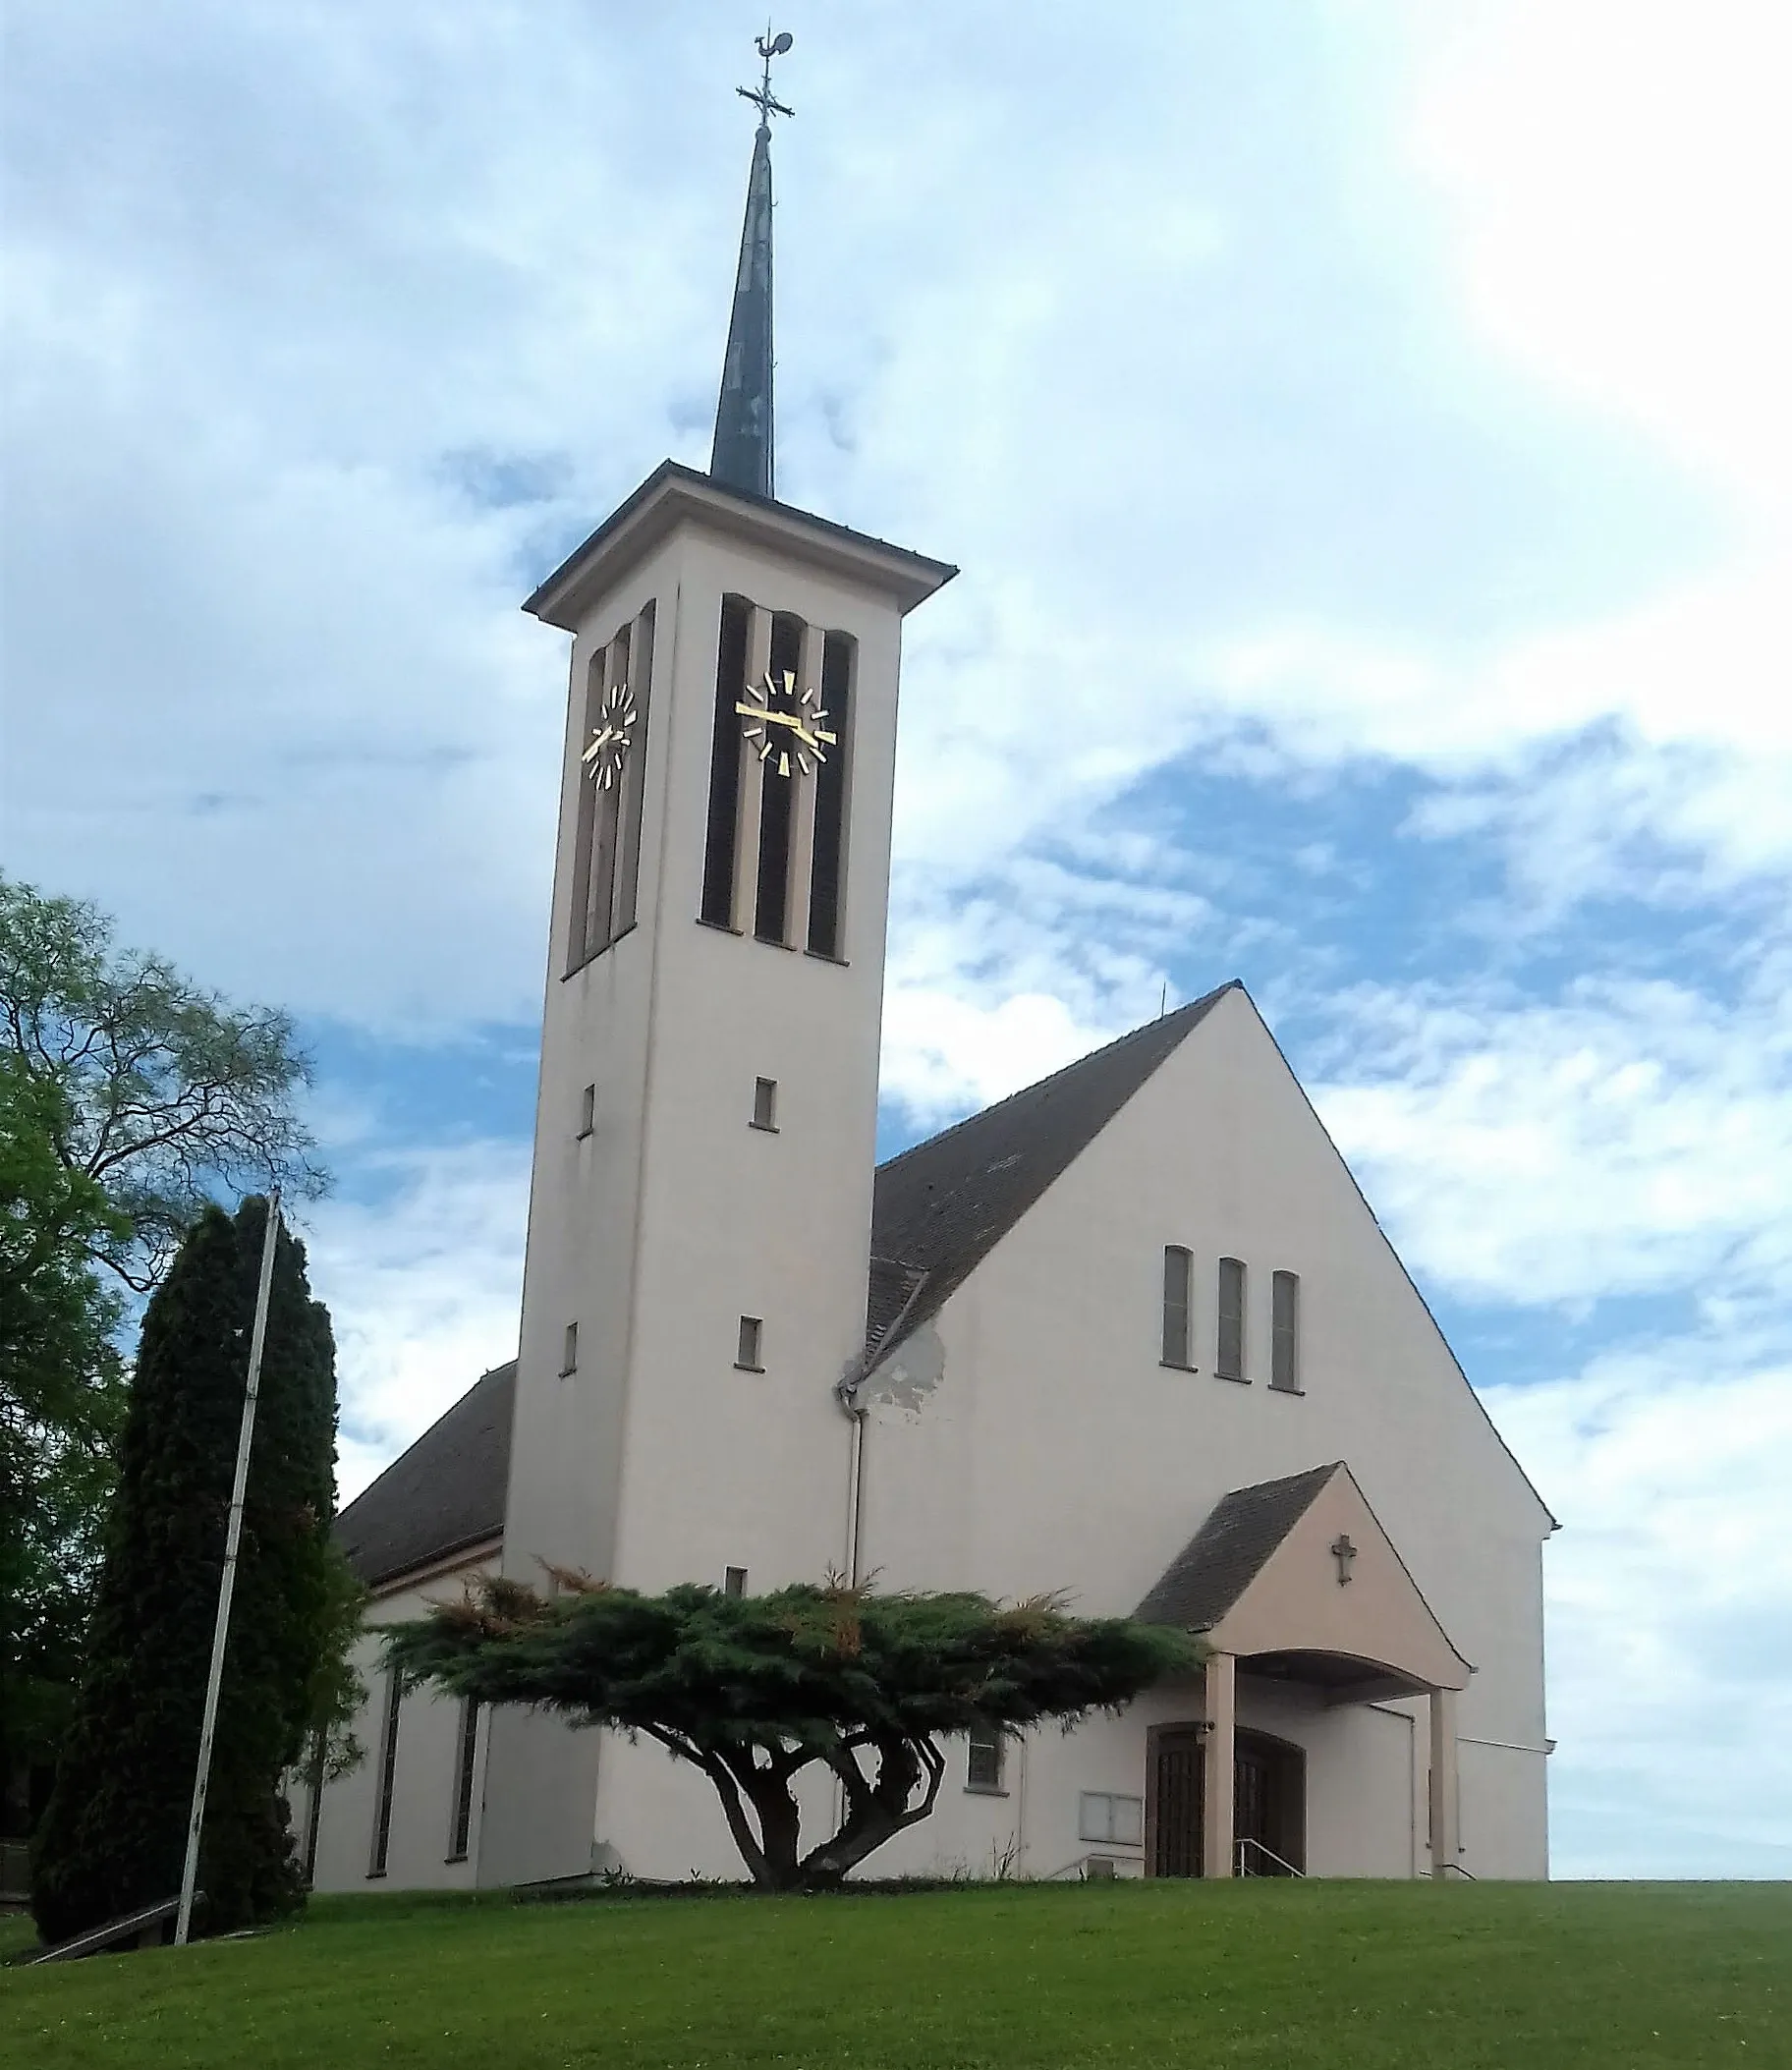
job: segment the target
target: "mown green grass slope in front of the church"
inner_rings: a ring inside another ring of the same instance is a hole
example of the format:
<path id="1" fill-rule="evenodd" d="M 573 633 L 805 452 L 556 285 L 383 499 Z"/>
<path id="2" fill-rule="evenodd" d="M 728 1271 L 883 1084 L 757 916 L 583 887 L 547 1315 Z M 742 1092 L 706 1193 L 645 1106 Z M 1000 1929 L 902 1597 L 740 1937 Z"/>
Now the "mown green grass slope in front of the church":
<path id="1" fill-rule="evenodd" d="M 1792 2066 L 1792 1886 L 319 1898 L 0 1975 L 6 2070 Z"/>

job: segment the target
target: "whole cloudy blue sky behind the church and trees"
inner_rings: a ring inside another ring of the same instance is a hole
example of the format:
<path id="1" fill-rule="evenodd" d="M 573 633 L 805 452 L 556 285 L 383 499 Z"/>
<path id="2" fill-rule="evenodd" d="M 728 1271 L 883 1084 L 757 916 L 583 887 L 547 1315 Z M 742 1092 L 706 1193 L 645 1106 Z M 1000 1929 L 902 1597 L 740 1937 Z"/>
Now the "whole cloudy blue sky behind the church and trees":
<path id="1" fill-rule="evenodd" d="M 1792 1873 L 1773 4 L 795 0 L 780 491 L 910 621 L 898 1147 L 1240 975 L 1564 1532 L 1560 1873 Z M 509 1354 L 565 656 L 757 17 L 17 0 L 6 867 L 290 1004 L 360 1486 Z"/>

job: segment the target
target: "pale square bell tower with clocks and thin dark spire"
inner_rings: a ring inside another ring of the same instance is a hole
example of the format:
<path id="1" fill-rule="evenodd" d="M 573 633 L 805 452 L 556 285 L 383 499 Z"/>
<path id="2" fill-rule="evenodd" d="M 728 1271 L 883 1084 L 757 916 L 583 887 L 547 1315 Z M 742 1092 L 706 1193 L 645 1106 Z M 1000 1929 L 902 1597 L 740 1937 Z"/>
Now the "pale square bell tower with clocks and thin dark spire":
<path id="1" fill-rule="evenodd" d="M 954 569 L 772 495 L 788 48 L 759 39 L 741 89 L 710 472 L 664 462 L 524 607 L 571 635 L 505 1521 L 536 1586 L 552 1563 L 759 1594 L 844 1563 L 900 633 Z M 641 1867 L 648 1801 L 681 1844 L 664 1768 L 497 1712 L 478 1880 Z"/>

